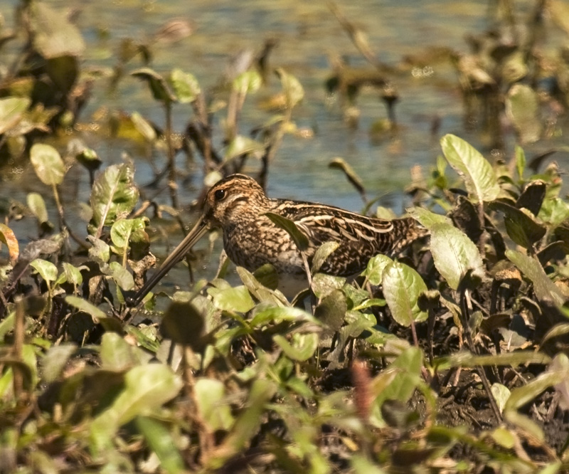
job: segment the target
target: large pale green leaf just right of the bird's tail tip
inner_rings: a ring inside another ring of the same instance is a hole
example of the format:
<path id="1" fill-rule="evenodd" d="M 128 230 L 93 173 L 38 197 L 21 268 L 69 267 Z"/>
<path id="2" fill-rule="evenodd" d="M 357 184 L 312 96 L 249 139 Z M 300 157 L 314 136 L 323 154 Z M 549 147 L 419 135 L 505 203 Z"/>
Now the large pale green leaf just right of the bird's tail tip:
<path id="1" fill-rule="evenodd" d="M 484 277 L 484 263 L 477 246 L 456 227 L 446 223 L 432 226 L 430 248 L 435 267 L 453 290 L 469 269 Z"/>

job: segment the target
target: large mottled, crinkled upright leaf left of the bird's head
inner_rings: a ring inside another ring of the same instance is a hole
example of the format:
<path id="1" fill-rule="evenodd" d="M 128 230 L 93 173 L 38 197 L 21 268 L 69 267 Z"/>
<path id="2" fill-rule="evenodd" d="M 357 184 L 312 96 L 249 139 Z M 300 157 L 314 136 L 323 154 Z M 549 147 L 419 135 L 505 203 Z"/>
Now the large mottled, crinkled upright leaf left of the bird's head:
<path id="1" fill-rule="evenodd" d="M 98 228 L 110 226 L 126 217 L 138 201 L 134 169 L 127 164 L 113 164 L 100 174 L 91 190 L 92 222 Z"/>

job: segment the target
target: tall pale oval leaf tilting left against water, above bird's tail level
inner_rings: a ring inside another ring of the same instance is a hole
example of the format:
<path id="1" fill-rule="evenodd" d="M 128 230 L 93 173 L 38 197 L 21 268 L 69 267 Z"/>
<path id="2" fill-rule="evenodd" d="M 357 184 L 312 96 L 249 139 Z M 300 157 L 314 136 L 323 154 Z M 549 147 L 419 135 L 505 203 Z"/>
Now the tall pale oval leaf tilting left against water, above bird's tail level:
<path id="1" fill-rule="evenodd" d="M 450 134 L 442 137 L 440 144 L 447 162 L 464 179 L 471 199 L 482 203 L 498 197 L 500 186 L 494 169 L 477 149 Z"/>

